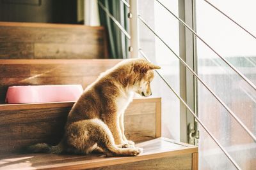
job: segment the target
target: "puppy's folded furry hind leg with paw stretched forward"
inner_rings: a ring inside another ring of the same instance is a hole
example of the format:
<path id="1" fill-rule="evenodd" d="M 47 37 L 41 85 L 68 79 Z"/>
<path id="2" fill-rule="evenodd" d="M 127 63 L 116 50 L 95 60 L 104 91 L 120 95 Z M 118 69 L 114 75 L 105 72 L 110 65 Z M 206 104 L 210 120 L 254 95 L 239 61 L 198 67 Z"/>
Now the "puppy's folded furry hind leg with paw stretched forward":
<path id="1" fill-rule="evenodd" d="M 134 156 L 143 151 L 142 148 L 118 148 L 108 126 L 99 119 L 82 120 L 71 124 L 66 135 L 68 145 L 84 153 L 90 153 L 95 143 L 108 156 Z"/>

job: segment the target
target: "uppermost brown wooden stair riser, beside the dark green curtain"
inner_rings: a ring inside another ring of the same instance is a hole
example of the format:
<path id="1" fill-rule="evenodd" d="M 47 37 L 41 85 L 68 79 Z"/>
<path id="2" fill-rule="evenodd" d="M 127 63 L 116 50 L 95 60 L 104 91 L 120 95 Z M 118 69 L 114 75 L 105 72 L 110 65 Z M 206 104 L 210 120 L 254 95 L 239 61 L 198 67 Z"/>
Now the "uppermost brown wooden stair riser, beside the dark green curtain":
<path id="1" fill-rule="evenodd" d="M 0 59 L 108 58 L 103 27 L 0 22 Z"/>

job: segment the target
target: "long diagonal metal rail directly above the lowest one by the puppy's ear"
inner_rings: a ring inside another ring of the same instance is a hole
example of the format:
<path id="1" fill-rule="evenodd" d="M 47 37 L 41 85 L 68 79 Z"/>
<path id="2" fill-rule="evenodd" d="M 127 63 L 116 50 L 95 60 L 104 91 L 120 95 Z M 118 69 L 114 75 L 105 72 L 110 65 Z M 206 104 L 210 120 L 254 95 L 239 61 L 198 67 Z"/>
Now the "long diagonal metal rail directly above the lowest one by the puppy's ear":
<path id="1" fill-rule="evenodd" d="M 204 85 L 204 87 L 205 87 L 207 90 L 209 90 L 209 92 L 211 92 L 212 96 L 214 96 L 214 97 L 220 102 L 220 104 L 228 111 L 228 113 L 230 113 L 230 115 L 236 120 L 236 122 L 237 122 L 239 125 L 241 125 L 241 127 L 243 127 L 244 131 L 246 131 L 246 132 L 249 134 L 249 136 L 252 137 L 253 141 L 256 142 L 256 137 L 254 136 L 254 134 L 246 127 L 246 125 L 243 124 L 243 122 L 241 122 L 241 120 L 236 116 L 236 114 L 235 114 L 232 110 L 230 110 L 230 108 L 228 108 L 227 104 L 225 104 L 225 103 L 220 99 L 220 97 L 218 97 L 218 96 L 210 89 L 210 87 L 208 87 L 208 85 L 205 84 L 205 82 L 198 76 L 198 74 L 196 74 L 195 71 L 193 71 L 193 69 L 191 69 L 191 67 L 189 67 L 188 64 L 186 64 L 186 62 L 185 62 L 182 58 L 180 58 L 179 55 L 177 55 L 177 54 L 172 50 L 172 48 L 170 48 L 170 46 L 168 46 L 168 45 L 163 41 L 162 38 L 160 38 L 160 37 L 158 36 L 158 34 L 156 33 L 156 31 L 154 31 L 154 29 L 152 29 L 152 27 L 150 27 L 150 25 L 148 25 L 148 24 L 145 22 L 145 20 L 143 20 L 143 18 L 141 18 L 140 15 L 138 15 L 138 18 L 141 20 L 141 22 L 143 22 L 143 24 L 145 24 L 145 25 L 148 27 L 148 29 L 150 29 L 150 31 L 152 31 L 152 32 L 155 34 L 155 36 L 156 36 L 157 38 L 159 38 L 159 39 L 164 43 L 164 45 L 166 45 L 166 47 L 180 60 L 180 62 L 182 62 L 182 64 L 183 64 L 185 67 L 187 67 L 187 68 L 189 69 L 189 71 L 191 71 L 192 74 L 194 74 L 194 76 L 197 78 L 197 80 L 199 80 L 199 81 Z"/>

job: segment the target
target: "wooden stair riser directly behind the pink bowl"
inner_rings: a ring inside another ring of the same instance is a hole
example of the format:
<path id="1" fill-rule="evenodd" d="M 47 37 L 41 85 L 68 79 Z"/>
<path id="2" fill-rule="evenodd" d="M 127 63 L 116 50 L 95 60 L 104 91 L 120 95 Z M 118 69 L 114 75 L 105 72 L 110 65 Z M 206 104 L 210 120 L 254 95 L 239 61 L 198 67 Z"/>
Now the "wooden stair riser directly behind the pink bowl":
<path id="1" fill-rule="evenodd" d="M 120 59 L 0 60 L 0 104 L 12 85 L 81 84 L 83 88 Z"/>

